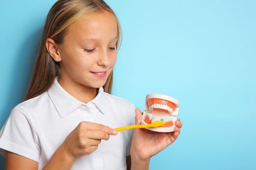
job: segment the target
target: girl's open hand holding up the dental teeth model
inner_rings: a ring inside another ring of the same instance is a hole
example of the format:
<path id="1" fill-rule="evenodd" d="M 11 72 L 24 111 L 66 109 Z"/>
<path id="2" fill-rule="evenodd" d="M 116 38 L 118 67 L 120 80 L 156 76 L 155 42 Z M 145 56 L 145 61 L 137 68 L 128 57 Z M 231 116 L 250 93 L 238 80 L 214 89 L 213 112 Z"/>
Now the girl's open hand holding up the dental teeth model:
<path id="1" fill-rule="evenodd" d="M 136 109 L 135 112 L 135 124 L 140 124 L 142 118 L 141 111 Z M 177 139 L 182 122 L 177 120 L 175 125 L 174 131 L 168 133 L 154 132 L 143 128 L 134 129 L 131 158 L 149 162 L 151 157 L 171 145 Z"/>

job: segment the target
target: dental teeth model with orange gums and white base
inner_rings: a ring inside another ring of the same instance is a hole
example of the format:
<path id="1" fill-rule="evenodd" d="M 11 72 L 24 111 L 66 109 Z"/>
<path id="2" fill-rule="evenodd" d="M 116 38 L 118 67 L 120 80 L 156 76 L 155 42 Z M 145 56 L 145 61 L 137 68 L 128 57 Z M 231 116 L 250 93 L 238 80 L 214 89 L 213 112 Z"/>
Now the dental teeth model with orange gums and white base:
<path id="1" fill-rule="evenodd" d="M 148 127 L 146 129 L 156 132 L 173 132 L 177 120 L 180 102 L 173 97 L 159 94 L 150 94 L 146 96 L 141 124 L 151 124 L 153 121 L 165 121 L 163 126 L 156 128 Z"/>

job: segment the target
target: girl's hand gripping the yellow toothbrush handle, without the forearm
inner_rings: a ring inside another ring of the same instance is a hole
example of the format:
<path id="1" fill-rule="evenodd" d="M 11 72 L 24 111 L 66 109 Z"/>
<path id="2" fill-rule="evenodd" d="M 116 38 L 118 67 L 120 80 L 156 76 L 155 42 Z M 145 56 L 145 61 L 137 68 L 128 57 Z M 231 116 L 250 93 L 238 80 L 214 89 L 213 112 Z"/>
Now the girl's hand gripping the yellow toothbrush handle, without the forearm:
<path id="1" fill-rule="evenodd" d="M 63 148 L 72 158 L 94 152 L 101 140 L 108 140 L 110 135 L 117 135 L 117 131 L 101 124 L 81 122 L 63 142 Z"/>

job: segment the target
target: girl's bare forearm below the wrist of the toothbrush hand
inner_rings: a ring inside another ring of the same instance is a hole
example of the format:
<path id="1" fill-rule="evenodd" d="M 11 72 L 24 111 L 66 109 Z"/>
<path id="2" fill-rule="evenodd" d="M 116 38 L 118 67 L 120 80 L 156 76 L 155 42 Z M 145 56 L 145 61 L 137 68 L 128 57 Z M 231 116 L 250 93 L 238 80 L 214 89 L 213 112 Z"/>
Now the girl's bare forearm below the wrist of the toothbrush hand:
<path id="1" fill-rule="evenodd" d="M 76 159 L 66 152 L 64 145 L 61 145 L 43 170 L 70 170 L 75 161 Z"/>

